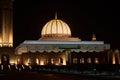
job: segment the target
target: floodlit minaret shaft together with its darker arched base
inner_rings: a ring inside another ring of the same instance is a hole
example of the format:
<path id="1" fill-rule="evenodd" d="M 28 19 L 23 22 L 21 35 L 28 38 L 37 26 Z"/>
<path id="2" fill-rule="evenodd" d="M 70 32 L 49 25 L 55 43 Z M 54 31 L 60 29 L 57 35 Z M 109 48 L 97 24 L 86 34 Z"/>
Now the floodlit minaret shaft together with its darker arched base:
<path id="1" fill-rule="evenodd" d="M 0 64 L 13 63 L 13 0 L 0 0 Z"/>

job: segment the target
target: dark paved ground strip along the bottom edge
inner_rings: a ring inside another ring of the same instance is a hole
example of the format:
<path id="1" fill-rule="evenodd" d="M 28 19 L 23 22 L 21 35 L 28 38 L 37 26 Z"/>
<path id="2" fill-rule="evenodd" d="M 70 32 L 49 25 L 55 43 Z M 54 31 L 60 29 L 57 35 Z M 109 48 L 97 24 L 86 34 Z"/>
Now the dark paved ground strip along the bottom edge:
<path id="1" fill-rule="evenodd" d="M 120 80 L 113 77 L 80 76 L 50 72 L 14 72 L 0 74 L 0 80 Z"/>

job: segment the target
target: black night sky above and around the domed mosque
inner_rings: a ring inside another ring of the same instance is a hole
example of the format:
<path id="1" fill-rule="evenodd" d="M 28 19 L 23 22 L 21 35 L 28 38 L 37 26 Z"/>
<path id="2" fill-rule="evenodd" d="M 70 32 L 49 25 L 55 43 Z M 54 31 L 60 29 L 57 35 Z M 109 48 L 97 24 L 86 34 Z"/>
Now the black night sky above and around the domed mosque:
<path id="1" fill-rule="evenodd" d="M 14 2 L 14 45 L 24 40 L 37 40 L 42 27 L 54 19 L 65 21 L 73 37 L 110 43 L 111 48 L 120 48 L 119 3 L 106 0 L 15 0 Z"/>

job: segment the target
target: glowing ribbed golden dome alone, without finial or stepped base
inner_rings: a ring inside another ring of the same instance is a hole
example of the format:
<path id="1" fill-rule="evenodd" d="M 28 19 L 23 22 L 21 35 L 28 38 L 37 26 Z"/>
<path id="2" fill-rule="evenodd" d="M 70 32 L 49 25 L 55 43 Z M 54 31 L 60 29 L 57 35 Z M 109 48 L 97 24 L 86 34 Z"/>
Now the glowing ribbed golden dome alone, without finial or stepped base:
<path id="1" fill-rule="evenodd" d="M 56 18 L 44 25 L 41 37 L 71 37 L 71 30 L 64 21 Z"/>

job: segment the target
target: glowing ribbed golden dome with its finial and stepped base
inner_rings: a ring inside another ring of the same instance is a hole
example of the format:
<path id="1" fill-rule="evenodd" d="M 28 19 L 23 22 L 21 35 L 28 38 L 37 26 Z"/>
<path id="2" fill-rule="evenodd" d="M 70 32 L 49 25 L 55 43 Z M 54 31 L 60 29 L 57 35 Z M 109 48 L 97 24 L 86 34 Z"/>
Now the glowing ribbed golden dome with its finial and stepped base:
<path id="1" fill-rule="evenodd" d="M 71 30 L 67 23 L 57 19 L 48 21 L 41 31 L 41 41 L 81 41 L 81 39 L 72 37 Z"/>

